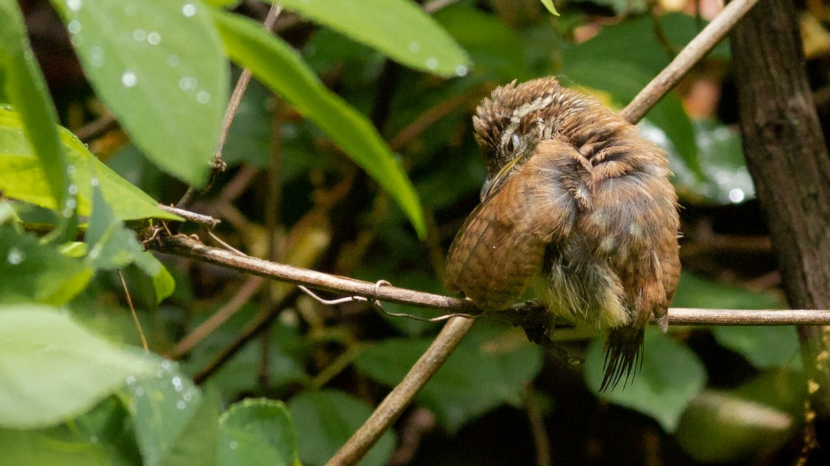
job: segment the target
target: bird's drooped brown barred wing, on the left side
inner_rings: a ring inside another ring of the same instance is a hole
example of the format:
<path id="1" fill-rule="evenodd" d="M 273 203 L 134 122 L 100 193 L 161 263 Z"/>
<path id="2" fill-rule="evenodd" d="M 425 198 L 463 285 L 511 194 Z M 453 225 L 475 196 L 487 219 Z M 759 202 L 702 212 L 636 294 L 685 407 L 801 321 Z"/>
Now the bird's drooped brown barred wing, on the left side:
<path id="1" fill-rule="evenodd" d="M 579 208 L 580 158 L 543 141 L 535 154 L 467 218 L 447 256 L 447 288 L 485 310 L 507 308 L 538 274 L 545 246 L 568 235 Z"/>

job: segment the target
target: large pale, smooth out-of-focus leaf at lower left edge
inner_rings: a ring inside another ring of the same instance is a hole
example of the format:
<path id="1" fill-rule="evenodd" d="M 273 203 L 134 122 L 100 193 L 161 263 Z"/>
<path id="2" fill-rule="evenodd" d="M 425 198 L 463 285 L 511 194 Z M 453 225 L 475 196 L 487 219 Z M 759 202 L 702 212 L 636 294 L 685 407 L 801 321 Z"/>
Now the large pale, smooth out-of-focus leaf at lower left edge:
<path id="1" fill-rule="evenodd" d="M 0 367 L 0 426 L 16 429 L 79 415 L 151 369 L 66 313 L 34 304 L 0 307 Z"/>

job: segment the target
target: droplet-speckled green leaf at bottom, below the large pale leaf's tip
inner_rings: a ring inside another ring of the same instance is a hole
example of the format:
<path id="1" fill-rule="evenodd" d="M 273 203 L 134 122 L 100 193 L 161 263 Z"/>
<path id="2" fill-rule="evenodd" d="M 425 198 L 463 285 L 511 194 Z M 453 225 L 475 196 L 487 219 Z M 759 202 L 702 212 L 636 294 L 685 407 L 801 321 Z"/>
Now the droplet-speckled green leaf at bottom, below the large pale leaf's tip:
<path id="1" fill-rule="evenodd" d="M 144 464 L 155 466 L 178 457 L 177 452 L 190 442 L 188 435 L 199 435 L 188 430 L 205 429 L 208 437 L 212 436 L 210 430 L 214 428 L 213 425 L 196 425 L 191 421 L 202 419 L 203 416 L 210 417 L 211 410 L 216 408 L 210 406 L 213 403 L 210 398 L 204 400 L 198 388 L 178 371 L 178 366 L 173 362 L 157 361 L 151 374 L 153 375 L 146 377 L 128 377 L 121 396 L 129 404 L 129 411 L 133 415 L 135 435 Z M 205 442 L 208 440 L 204 439 Z M 216 454 L 211 457 L 209 452 L 203 453 L 206 459 L 216 460 Z"/>

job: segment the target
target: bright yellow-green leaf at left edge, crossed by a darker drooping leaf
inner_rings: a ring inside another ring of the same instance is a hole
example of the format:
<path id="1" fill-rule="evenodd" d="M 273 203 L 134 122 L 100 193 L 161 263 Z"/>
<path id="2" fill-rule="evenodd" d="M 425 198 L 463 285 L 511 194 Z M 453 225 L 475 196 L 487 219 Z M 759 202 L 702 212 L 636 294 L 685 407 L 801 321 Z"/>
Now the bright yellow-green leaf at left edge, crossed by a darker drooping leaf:
<path id="1" fill-rule="evenodd" d="M 69 130 L 58 127 L 69 158 L 71 191 L 76 192 L 78 213 L 90 215 L 93 180 L 121 220 L 156 217 L 182 220 L 159 209 L 158 202 L 113 172 L 95 158 Z M 27 201 L 47 209 L 58 204 L 49 191 L 46 175 L 23 135 L 23 122 L 12 109 L 0 108 L 0 190 L 6 197 Z"/>

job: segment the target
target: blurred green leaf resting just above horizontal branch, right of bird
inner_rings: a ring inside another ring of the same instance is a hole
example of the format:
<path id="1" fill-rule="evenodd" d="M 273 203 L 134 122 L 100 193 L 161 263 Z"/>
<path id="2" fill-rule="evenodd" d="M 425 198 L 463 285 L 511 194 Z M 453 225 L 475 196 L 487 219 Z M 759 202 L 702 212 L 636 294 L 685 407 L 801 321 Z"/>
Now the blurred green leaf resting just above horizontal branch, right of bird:
<path id="1" fill-rule="evenodd" d="M 771 294 L 749 291 L 683 272 L 671 306 L 675 308 L 783 309 L 786 303 Z"/>

